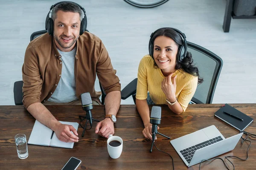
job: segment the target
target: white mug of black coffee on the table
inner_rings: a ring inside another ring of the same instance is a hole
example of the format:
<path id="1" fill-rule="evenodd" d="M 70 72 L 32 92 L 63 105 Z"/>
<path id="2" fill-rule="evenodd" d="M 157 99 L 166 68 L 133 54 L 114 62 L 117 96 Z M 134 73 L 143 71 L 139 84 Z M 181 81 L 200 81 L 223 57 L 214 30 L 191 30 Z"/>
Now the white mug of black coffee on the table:
<path id="1" fill-rule="evenodd" d="M 121 144 L 119 146 L 113 147 L 109 145 L 111 141 L 119 141 Z M 117 159 L 120 157 L 122 153 L 122 143 L 123 143 L 122 138 L 120 138 L 119 136 L 109 135 L 107 140 L 107 145 L 108 145 L 108 154 L 111 158 Z"/>

